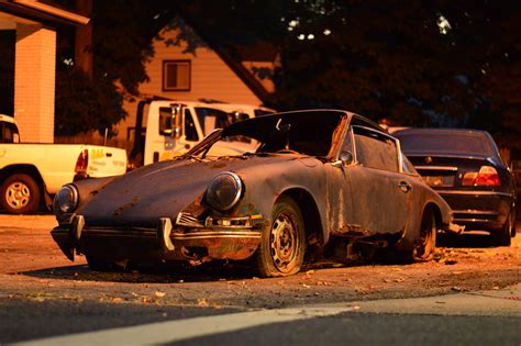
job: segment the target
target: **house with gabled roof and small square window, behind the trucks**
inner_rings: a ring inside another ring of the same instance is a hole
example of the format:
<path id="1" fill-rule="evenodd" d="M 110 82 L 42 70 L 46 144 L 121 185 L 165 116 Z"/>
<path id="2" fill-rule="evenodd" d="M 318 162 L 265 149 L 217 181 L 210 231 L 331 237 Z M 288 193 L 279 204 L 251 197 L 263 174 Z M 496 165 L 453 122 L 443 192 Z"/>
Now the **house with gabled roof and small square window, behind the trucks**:
<path id="1" fill-rule="evenodd" d="M 273 47 L 269 52 L 263 47 L 232 56 L 204 37 L 193 23 L 176 16 L 153 41 L 155 55 L 145 64 L 149 80 L 138 87 L 140 93 L 171 100 L 262 105 L 274 91 L 270 76 L 278 62 Z M 132 139 L 136 108 L 137 102 L 125 101 L 129 115 L 115 127 L 119 139 Z"/>

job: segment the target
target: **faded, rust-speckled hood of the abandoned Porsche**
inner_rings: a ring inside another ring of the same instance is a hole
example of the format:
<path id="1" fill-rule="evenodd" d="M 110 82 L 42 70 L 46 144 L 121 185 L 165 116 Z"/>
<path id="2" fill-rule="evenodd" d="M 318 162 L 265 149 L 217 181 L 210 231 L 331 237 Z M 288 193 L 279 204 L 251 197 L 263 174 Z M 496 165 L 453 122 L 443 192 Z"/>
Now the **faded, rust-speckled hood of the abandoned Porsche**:
<path id="1" fill-rule="evenodd" d="M 200 199 L 211 179 L 222 171 L 234 171 L 247 180 L 248 171 L 260 169 L 259 166 L 269 169 L 292 160 L 308 167 L 319 164 L 318 159 L 299 154 L 157 163 L 115 179 L 78 213 L 85 216 L 87 225 L 155 227 L 159 217 L 175 221 L 180 211 Z M 254 182 L 250 179 L 246 186 L 248 183 Z"/>

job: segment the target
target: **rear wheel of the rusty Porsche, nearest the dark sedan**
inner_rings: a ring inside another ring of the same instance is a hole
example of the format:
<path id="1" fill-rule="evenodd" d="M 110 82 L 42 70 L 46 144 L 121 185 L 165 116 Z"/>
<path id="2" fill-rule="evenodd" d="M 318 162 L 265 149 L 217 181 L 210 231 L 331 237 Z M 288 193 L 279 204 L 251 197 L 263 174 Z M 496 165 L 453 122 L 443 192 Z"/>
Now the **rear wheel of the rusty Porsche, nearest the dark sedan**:
<path id="1" fill-rule="evenodd" d="M 421 217 L 419 238 L 414 241 L 412 259 L 414 261 L 432 259 L 436 248 L 436 216 L 431 208 L 423 211 Z"/>

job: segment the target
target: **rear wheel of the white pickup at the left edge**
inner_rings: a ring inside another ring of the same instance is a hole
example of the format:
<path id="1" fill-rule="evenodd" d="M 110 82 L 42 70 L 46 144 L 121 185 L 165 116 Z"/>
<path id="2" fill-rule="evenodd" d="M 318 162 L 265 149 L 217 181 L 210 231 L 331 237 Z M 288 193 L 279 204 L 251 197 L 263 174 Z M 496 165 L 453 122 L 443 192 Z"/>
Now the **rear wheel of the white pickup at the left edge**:
<path id="1" fill-rule="evenodd" d="M 38 210 L 42 192 L 33 177 L 15 174 L 0 188 L 0 202 L 10 214 L 32 214 Z"/>

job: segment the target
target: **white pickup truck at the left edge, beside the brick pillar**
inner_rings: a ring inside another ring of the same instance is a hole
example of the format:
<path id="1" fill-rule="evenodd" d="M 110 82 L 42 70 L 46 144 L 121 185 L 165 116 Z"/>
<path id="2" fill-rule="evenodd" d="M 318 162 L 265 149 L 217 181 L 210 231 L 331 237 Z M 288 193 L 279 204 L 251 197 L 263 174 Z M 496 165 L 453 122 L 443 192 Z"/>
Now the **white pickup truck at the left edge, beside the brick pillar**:
<path id="1" fill-rule="evenodd" d="M 0 204 L 4 212 L 27 214 L 65 183 L 122 175 L 124 149 L 86 144 L 20 143 L 13 118 L 0 114 Z"/>

